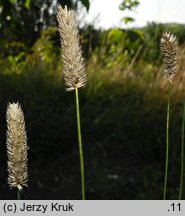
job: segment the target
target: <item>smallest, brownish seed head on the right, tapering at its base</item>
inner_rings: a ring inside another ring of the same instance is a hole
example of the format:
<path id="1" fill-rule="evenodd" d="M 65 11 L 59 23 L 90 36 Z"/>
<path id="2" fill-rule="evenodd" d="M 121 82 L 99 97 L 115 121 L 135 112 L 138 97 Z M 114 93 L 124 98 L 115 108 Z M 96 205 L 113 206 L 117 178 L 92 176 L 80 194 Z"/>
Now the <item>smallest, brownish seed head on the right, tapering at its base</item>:
<path id="1" fill-rule="evenodd" d="M 178 45 L 176 37 L 170 33 L 164 33 L 161 37 L 160 49 L 166 79 L 171 83 L 177 71 Z"/>

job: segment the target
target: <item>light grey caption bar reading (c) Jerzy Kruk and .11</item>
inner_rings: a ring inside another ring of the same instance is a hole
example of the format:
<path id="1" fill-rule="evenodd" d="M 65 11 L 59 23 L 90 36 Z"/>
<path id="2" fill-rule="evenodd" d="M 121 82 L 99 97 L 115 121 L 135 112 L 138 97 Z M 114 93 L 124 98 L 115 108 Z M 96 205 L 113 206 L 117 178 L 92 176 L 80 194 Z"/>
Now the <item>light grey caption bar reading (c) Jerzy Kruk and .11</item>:
<path id="1" fill-rule="evenodd" d="M 19 200 L 0 201 L 0 215 L 30 216 L 183 216 L 185 201 Z"/>

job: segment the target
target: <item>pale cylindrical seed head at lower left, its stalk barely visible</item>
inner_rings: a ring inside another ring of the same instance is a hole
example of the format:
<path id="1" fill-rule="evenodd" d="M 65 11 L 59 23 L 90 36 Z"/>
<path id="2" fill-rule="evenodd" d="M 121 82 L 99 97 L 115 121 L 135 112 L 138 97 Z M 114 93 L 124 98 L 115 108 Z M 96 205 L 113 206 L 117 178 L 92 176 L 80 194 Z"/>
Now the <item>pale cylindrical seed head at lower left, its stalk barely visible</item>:
<path id="1" fill-rule="evenodd" d="M 9 103 L 6 112 L 7 121 L 7 155 L 8 155 L 8 184 L 10 188 L 19 190 L 27 186 L 27 137 L 24 114 L 18 103 Z"/>

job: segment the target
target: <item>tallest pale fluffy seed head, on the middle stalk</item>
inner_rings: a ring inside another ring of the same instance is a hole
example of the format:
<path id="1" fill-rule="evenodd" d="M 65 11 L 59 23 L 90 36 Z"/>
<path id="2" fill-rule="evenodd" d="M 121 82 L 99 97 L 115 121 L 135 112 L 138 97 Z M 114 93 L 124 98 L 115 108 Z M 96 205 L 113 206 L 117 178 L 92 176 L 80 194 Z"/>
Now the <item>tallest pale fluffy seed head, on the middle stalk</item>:
<path id="1" fill-rule="evenodd" d="M 63 72 L 68 91 L 84 87 L 87 81 L 84 59 L 79 45 L 75 12 L 57 5 L 58 31 L 62 47 Z"/>

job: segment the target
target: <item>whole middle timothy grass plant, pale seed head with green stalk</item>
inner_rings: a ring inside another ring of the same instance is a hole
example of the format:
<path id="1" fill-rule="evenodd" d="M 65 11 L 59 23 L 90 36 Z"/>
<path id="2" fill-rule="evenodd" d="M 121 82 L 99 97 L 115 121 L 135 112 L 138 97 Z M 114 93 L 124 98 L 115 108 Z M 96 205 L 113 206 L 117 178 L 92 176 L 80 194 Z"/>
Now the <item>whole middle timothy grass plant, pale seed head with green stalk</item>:
<path id="1" fill-rule="evenodd" d="M 87 81 L 84 59 L 79 45 L 79 32 L 76 15 L 67 6 L 57 6 L 58 30 L 61 39 L 64 80 L 67 91 L 75 91 L 77 134 L 81 172 L 82 200 L 85 200 L 85 172 L 80 123 L 80 106 L 78 89 L 84 87 Z"/>

